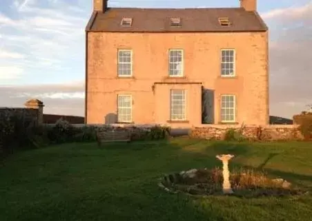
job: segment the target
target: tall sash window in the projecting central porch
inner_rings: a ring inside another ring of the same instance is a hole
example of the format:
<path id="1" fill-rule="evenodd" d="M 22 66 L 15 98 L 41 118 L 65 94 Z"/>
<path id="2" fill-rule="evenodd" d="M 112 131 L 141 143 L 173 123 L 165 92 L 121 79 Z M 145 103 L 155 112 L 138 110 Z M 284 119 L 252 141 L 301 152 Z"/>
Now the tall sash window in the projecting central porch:
<path id="1" fill-rule="evenodd" d="M 185 90 L 170 90 L 170 120 L 186 120 L 185 95 Z"/>

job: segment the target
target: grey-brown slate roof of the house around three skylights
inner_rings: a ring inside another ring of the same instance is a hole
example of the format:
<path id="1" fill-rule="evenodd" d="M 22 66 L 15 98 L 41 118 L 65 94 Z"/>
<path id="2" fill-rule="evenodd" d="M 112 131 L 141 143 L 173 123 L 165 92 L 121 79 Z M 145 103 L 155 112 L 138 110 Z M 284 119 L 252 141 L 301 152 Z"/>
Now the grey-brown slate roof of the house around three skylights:
<path id="1" fill-rule="evenodd" d="M 130 27 L 121 26 L 122 18 L 132 18 Z M 179 17 L 181 27 L 171 27 L 170 18 Z M 231 25 L 222 26 L 220 17 Z M 257 12 L 244 8 L 108 8 L 93 12 L 86 31 L 91 32 L 261 32 L 268 30 Z"/>

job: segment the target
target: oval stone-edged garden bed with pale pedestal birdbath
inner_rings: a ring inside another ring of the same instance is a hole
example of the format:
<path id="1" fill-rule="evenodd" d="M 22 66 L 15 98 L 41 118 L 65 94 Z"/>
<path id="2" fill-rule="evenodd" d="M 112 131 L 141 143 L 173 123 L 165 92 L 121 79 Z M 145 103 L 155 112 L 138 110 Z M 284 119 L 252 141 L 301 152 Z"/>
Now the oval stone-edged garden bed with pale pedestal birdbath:
<path id="1" fill-rule="evenodd" d="M 236 168 L 228 170 L 233 155 L 218 155 L 223 168 L 200 168 L 171 173 L 160 179 L 158 185 L 170 193 L 191 196 L 237 196 L 256 198 L 265 196 L 299 196 L 309 193 L 295 187 L 283 178 L 271 178 L 264 171 Z"/>

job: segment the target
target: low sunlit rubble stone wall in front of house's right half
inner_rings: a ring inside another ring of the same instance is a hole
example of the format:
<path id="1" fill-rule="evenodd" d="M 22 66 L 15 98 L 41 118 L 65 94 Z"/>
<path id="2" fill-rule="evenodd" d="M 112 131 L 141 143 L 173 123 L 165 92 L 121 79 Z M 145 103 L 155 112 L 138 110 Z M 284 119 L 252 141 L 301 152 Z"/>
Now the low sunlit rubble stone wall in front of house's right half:
<path id="1" fill-rule="evenodd" d="M 207 140 L 223 140 L 228 129 L 241 131 L 248 140 L 302 140 L 298 125 L 202 125 L 193 127 L 189 136 Z"/>

